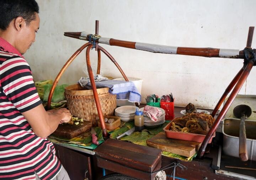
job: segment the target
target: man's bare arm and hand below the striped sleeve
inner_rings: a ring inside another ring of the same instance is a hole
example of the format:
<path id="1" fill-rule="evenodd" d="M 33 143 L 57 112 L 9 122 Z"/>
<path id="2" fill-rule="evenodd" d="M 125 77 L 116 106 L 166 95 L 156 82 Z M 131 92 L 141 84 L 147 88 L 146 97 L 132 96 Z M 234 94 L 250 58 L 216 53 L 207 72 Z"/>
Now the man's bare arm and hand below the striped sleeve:
<path id="1" fill-rule="evenodd" d="M 71 114 L 66 108 L 47 112 L 40 104 L 33 109 L 21 113 L 32 127 L 34 134 L 46 138 L 52 134 L 62 122 L 69 122 Z"/>

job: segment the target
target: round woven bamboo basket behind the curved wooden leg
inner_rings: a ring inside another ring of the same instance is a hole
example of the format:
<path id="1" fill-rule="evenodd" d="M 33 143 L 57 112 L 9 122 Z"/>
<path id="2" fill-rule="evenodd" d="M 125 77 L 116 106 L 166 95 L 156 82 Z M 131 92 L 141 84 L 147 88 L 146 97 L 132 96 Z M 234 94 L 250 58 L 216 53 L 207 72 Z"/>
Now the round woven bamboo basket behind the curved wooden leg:
<path id="1" fill-rule="evenodd" d="M 112 116 L 116 108 L 116 95 L 110 94 L 108 90 L 109 88 L 97 89 L 104 117 Z M 93 126 L 97 126 L 99 117 L 92 90 L 83 88 L 79 84 L 74 84 L 65 88 L 64 96 L 67 100 L 69 111 L 73 116 L 91 121 Z"/>

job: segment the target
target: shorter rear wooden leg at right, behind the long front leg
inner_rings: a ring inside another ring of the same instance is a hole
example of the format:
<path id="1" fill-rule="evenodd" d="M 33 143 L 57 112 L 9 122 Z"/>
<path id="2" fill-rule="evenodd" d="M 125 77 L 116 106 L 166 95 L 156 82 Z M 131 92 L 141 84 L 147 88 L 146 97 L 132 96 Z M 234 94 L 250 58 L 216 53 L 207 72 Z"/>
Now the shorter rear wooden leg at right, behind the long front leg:
<path id="1" fill-rule="evenodd" d="M 225 92 L 223 93 L 222 97 L 220 98 L 219 102 L 217 103 L 217 105 L 215 106 L 215 108 L 213 109 L 212 112 L 212 117 L 215 116 L 215 114 L 217 113 L 217 111 L 219 110 L 220 106 L 222 105 L 223 101 L 226 99 L 226 96 L 229 94 L 229 92 L 233 89 L 233 87 L 236 85 L 236 83 L 238 82 L 239 78 L 241 77 L 242 72 L 244 71 L 245 66 L 243 66 L 240 71 L 236 74 L 236 76 L 234 77 L 234 79 L 231 81 L 231 83 L 228 85 L 228 87 L 226 88 Z"/>

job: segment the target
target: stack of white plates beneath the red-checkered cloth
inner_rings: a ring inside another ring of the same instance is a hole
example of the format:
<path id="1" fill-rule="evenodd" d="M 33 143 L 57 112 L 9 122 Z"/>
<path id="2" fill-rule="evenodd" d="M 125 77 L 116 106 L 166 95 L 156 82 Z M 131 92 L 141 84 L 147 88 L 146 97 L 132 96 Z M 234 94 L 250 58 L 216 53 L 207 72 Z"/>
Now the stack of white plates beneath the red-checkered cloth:
<path id="1" fill-rule="evenodd" d="M 158 121 L 153 121 L 150 119 L 150 117 L 148 117 L 146 114 L 143 113 L 144 116 L 144 126 L 148 127 L 148 128 L 155 128 L 157 126 L 160 126 L 161 124 L 165 123 L 165 110 L 160 108 L 160 107 L 156 107 L 158 109 L 160 109 L 162 111 L 162 114 L 157 117 Z M 139 111 L 144 111 L 144 107 L 140 108 Z"/>

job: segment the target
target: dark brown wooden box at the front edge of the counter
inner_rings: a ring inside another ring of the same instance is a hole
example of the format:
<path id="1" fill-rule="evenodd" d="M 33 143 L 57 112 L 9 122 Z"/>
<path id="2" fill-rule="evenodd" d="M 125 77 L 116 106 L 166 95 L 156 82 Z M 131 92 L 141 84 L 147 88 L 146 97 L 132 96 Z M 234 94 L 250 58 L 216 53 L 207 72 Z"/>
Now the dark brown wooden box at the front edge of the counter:
<path id="1" fill-rule="evenodd" d="M 123 167 L 152 173 L 161 167 L 161 150 L 121 140 L 107 139 L 95 149 L 96 156 Z"/>

